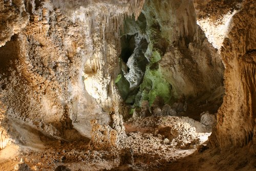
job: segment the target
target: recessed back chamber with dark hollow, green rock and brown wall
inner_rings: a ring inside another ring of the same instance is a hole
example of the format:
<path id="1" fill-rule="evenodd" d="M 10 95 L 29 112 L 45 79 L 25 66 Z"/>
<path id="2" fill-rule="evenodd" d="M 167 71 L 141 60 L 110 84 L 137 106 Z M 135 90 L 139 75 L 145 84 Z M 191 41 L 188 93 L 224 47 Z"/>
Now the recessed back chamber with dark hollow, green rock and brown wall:
<path id="1" fill-rule="evenodd" d="M 168 39 L 164 35 L 172 34 L 173 30 L 167 30 L 156 15 L 159 14 L 146 9 L 138 20 L 134 16 L 124 20 L 120 37 L 121 72 L 115 82 L 131 108 L 129 116 L 133 117 L 135 112 L 139 118 L 174 115 L 199 121 L 204 112 L 216 114 L 224 94 L 224 67 L 217 59 L 220 55 L 211 54 L 211 45 L 196 45 L 195 29 L 178 40 Z M 204 36 L 201 29 L 197 34 Z M 193 46 L 196 50 L 191 49 Z M 201 49 L 206 49 L 205 59 L 199 59 Z"/>

